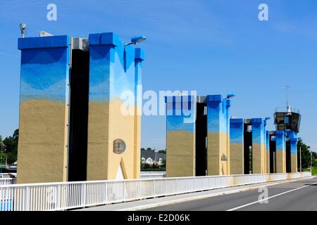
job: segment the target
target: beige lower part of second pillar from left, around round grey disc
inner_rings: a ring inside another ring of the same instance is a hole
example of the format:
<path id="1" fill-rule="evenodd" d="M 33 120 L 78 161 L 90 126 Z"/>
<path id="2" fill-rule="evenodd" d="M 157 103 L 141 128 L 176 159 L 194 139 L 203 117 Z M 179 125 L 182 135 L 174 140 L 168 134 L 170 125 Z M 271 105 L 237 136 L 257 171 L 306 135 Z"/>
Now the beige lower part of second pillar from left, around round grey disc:
<path id="1" fill-rule="evenodd" d="M 121 101 L 89 103 L 87 180 L 116 179 L 120 165 L 125 179 L 139 178 L 140 118 L 123 115 L 121 105 Z M 116 139 L 125 141 L 123 153 L 113 153 Z"/>

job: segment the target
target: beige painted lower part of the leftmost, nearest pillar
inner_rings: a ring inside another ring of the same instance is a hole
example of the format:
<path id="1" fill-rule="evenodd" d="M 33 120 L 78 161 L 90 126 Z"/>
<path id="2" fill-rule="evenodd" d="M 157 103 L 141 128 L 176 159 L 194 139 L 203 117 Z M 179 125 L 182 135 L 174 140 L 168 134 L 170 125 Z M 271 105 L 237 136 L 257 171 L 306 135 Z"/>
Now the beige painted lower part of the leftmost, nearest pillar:
<path id="1" fill-rule="evenodd" d="M 20 103 L 18 184 L 66 181 L 68 106 L 48 100 Z"/>

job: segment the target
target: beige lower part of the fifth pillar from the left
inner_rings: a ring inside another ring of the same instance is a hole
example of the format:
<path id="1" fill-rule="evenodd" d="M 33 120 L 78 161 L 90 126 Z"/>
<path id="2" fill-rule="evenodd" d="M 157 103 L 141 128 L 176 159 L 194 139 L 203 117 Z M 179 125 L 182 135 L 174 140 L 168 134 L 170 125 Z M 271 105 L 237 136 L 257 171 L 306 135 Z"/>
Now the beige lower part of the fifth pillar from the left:
<path id="1" fill-rule="evenodd" d="M 244 174 L 244 145 L 230 143 L 230 174 Z"/>

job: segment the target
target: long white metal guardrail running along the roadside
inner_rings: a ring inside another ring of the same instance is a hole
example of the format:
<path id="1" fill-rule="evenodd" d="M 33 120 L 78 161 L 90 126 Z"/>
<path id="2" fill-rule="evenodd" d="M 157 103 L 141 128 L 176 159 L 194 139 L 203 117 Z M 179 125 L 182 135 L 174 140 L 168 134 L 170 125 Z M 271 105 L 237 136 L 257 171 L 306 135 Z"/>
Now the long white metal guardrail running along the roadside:
<path id="1" fill-rule="evenodd" d="M 311 173 L 13 184 L 0 186 L 0 211 L 69 210 L 304 176 Z"/>

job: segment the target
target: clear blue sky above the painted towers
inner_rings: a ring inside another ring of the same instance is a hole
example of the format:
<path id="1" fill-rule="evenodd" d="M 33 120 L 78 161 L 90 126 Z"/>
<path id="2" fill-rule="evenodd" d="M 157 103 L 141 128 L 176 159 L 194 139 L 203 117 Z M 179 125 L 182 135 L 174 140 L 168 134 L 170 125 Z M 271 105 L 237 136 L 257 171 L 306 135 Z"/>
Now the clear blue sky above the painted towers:
<path id="1" fill-rule="evenodd" d="M 46 19 L 50 3 L 57 21 Z M 258 19 L 261 3 L 268 4 L 268 21 Z M 292 106 L 302 113 L 299 136 L 317 149 L 316 0 L 1 0 L 1 136 L 18 128 L 21 22 L 28 37 L 41 30 L 73 37 L 116 32 L 123 41 L 144 34 L 144 91 L 233 92 L 236 117 L 273 117 L 289 85 Z M 143 147 L 165 148 L 165 136 L 165 117 L 142 118 Z"/>

